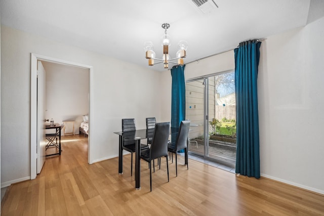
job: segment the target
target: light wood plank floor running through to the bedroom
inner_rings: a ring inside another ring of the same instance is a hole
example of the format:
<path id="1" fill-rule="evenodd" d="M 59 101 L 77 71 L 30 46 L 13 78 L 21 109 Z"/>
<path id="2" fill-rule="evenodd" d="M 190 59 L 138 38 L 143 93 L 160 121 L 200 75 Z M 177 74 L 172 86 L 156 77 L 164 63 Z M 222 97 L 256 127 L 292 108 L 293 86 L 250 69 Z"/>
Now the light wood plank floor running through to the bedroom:
<path id="1" fill-rule="evenodd" d="M 47 158 L 35 180 L 10 186 L 1 215 L 324 215 L 324 196 L 194 160 L 187 170 L 181 156 L 178 177 L 175 163 L 169 163 L 169 183 L 162 160 L 152 175 L 152 192 L 142 161 L 142 189 L 137 191 L 130 155 L 124 156 L 124 174 L 118 175 L 117 158 L 87 163 L 83 136 L 63 140 L 62 155 Z"/>

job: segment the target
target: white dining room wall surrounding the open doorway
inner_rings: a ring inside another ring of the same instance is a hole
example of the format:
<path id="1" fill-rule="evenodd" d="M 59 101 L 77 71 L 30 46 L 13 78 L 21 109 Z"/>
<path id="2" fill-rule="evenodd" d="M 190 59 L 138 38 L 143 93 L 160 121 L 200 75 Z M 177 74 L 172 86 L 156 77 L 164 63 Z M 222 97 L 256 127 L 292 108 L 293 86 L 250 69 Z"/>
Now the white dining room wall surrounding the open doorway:
<path id="1" fill-rule="evenodd" d="M 171 106 L 162 103 L 169 84 L 160 84 L 160 72 L 6 26 L 1 31 L 2 187 L 30 178 L 30 53 L 93 66 L 91 162 L 118 155 L 113 132 L 121 118 L 134 117 L 138 128 L 148 116 L 170 121 L 163 113 Z"/>

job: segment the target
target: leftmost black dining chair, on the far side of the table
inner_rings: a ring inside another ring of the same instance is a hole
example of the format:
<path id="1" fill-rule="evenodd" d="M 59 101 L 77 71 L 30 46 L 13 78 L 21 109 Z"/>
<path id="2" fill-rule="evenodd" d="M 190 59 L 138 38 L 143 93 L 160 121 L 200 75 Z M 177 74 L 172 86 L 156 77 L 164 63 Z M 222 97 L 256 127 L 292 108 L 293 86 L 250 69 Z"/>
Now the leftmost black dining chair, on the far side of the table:
<path id="1" fill-rule="evenodd" d="M 121 119 L 121 130 L 125 133 L 135 133 L 136 125 L 134 118 L 123 118 Z M 148 145 L 141 144 L 142 149 L 148 149 Z M 135 152 L 135 140 L 124 138 L 123 149 L 131 152 L 131 176 L 133 176 L 133 153 Z"/>

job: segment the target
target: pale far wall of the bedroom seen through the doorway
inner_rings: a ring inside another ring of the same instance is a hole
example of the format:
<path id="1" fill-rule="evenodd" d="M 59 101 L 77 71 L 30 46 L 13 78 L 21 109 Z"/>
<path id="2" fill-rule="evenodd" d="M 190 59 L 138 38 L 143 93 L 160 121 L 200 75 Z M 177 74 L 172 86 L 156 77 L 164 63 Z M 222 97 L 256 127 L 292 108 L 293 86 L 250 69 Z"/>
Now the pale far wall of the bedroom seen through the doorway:
<path id="1" fill-rule="evenodd" d="M 46 119 L 53 118 L 60 124 L 74 121 L 74 133 L 78 134 L 82 116 L 89 114 L 89 70 L 51 62 L 43 62 L 43 65 L 46 69 Z"/>

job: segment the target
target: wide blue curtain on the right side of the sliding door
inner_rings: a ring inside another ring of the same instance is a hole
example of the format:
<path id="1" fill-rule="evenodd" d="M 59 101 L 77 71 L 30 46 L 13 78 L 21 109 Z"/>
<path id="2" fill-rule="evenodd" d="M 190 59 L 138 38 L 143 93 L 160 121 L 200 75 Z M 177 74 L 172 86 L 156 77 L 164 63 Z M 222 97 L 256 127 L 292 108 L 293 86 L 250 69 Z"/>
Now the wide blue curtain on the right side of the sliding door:
<path id="1" fill-rule="evenodd" d="M 236 166 L 240 175 L 260 178 L 257 77 L 261 42 L 241 42 L 234 50 Z"/>

